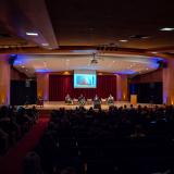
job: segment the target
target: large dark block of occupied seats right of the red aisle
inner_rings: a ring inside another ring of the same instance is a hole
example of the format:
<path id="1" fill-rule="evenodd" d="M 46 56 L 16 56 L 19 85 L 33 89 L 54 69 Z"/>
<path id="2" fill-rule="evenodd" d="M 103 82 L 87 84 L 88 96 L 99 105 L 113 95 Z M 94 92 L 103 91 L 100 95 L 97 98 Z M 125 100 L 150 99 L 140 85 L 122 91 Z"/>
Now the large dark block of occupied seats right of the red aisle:
<path id="1" fill-rule="evenodd" d="M 173 173 L 174 109 L 60 109 L 34 149 L 46 174 Z"/>

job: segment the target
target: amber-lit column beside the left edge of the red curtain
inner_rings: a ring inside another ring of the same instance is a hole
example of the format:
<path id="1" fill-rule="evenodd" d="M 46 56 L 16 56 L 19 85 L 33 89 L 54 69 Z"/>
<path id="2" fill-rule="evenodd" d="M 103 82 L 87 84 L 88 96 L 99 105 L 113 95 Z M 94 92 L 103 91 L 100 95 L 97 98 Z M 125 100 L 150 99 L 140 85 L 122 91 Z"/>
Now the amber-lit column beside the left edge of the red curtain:
<path id="1" fill-rule="evenodd" d="M 37 97 L 49 100 L 49 74 L 37 73 Z"/>

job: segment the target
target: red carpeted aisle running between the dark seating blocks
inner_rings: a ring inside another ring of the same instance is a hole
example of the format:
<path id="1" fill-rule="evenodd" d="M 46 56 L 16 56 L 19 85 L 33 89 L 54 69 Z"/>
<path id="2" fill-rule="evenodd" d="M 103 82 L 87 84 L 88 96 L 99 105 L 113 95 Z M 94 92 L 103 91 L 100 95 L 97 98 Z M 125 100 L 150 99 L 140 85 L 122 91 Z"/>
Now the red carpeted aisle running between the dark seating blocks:
<path id="1" fill-rule="evenodd" d="M 49 122 L 48 116 L 40 116 L 38 123 L 12 147 L 4 157 L 0 157 L 0 174 L 22 174 L 23 160 L 39 141 Z"/>

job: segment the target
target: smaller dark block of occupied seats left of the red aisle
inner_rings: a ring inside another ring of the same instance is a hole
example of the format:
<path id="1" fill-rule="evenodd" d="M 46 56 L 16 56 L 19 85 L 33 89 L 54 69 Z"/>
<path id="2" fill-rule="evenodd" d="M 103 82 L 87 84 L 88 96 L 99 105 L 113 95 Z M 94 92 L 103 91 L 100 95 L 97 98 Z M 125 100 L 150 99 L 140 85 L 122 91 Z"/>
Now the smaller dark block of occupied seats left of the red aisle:
<path id="1" fill-rule="evenodd" d="M 33 109 L 22 107 L 0 108 L 0 154 L 3 156 L 10 147 L 16 144 L 36 123 L 38 113 Z"/>

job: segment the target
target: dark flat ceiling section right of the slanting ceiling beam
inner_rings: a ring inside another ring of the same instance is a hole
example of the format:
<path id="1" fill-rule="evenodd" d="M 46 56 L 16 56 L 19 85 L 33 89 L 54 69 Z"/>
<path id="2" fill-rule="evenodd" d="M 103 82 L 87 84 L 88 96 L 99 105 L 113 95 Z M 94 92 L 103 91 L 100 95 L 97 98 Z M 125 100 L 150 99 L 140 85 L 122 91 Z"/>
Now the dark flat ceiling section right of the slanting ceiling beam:
<path id="1" fill-rule="evenodd" d="M 60 45 L 109 45 L 150 49 L 174 45 L 173 1 L 160 0 L 46 0 Z M 149 36 L 130 39 L 133 35 Z M 128 39 L 120 42 L 120 39 Z"/>

